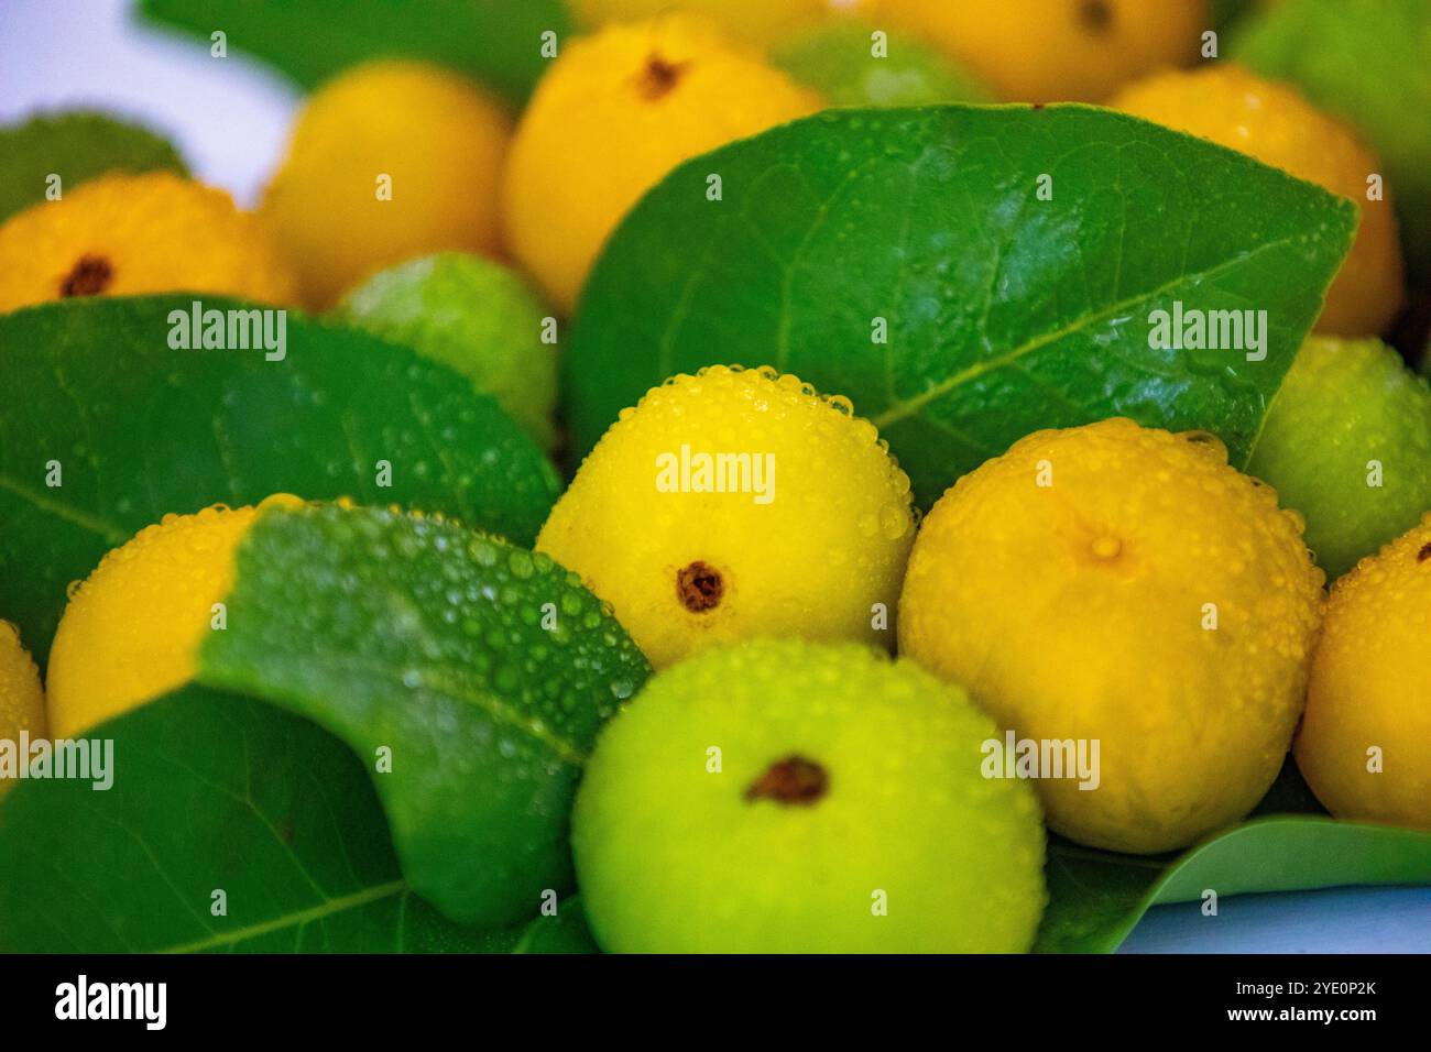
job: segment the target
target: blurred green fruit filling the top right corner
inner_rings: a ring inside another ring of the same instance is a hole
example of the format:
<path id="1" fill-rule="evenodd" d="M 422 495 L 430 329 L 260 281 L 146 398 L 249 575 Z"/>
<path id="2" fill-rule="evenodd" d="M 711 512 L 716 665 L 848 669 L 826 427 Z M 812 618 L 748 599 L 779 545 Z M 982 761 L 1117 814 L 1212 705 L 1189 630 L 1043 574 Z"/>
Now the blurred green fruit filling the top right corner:
<path id="1" fill-rule="evenodd" d="M 1431 278 L 1431 0 L 1285 0 L 1229 56 L 1294 82 L 1381 155 L 1412 273 Z"/>

